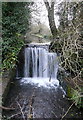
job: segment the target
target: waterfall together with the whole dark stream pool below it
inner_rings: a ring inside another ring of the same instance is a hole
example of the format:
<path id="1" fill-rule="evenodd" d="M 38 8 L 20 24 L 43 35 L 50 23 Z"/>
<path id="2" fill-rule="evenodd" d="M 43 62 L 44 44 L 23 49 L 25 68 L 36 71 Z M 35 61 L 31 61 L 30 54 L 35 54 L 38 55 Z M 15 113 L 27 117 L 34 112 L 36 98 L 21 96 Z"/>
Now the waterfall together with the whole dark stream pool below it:
<path id="1" fill-rule="evenodd" d="M 3 115 L 11 120 L 62 118 L 70 103 L 57 80 L 57 54 L 49 52 L 49 45 L 30 45 L 22 50 L 18 63 L 18 78 L 13 79 L 5 101 L 6 107 L 15 110 Z"/>

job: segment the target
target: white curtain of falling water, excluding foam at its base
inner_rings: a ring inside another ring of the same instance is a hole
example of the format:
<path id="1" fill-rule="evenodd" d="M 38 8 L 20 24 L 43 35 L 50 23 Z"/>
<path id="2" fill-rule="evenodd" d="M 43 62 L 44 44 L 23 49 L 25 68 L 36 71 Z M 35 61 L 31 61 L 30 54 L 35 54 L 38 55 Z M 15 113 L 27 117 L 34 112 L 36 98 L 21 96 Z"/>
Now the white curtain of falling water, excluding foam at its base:
<path id="1" fill-rule="evenodd" d="M 56 78 L 57 70 L 56 53 L 42 47 L 25 48 L 24 77 Z"/>

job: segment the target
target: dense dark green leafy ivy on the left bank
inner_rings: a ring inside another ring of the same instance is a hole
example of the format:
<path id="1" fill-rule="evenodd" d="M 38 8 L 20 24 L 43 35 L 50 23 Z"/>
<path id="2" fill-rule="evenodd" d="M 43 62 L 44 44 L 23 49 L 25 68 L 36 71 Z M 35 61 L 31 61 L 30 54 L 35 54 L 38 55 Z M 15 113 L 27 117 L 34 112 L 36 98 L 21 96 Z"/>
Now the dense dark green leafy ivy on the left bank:
<path id="1" fill-rule="evenodd" d="M 26 2 L 2 3 L 3 69 L 15 66 L 17 55 L 24 45 L 24 35 L 30 24 L 28 6 Z"/>

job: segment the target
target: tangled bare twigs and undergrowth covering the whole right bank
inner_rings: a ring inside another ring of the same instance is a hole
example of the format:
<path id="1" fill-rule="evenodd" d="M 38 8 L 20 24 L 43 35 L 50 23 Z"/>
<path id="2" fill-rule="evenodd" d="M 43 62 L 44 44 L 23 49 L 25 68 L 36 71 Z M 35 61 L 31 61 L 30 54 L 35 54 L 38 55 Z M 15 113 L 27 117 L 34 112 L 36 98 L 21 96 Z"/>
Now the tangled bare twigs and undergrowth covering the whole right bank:
<path id="1" fill-rule="evenodd" d="M 68 77 L 67 80 L 71 87 L 74 85 L 72 100 L 80 107 L 82 101 L 80 101 L 80 91 L 76 87 L 81 88 L 83 83 L 82 5 L 83 2 L 60 4 L 58 39 L 55 39 L 51 48 L 59 52 L 60 66 L 70 74 L 71 79 Z"/>

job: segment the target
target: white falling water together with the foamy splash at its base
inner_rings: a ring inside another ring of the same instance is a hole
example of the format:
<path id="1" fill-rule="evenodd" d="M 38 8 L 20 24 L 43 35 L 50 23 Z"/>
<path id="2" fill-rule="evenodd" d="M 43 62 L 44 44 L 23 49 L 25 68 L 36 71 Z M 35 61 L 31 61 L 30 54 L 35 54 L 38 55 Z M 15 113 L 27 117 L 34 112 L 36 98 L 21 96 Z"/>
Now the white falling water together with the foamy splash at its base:
<path id="1" fill-rule="evenodd" d="M 56 53 L 50 53 L 48 46 L 25 48 L 24 78 L 22 82 L 39 86 L 59 85 Z"/>

